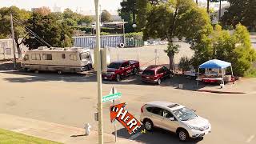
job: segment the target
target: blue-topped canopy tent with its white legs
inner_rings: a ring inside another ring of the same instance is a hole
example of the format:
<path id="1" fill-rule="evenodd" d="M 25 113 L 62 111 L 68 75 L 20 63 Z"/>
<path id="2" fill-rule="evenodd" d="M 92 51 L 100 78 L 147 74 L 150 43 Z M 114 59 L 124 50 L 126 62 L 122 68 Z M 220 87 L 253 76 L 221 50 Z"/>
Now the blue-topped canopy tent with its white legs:
<path id="1" fill-rule="evenodd" d="M 225 62 L 225 61 L 221 61 L 218 59 L 212 59 L 210 61 L 204 62 L 202 63 L 202 65 L 198 66 L 198 81 L 199 81 L 199 70 L 200 69 L 214 69 L 214 68 L 218 68 L 218 69 L 225 69 L 226 67 L 231 68 L 231 73 L 232 73 L 232 77 L 233 75 L 233 70 L 232 70 L 232 66 L 230 62 Z M 222 82 L 223 82 L 223 71 L 222 71 Z M 198 84 L 197 84 L 198 85 Z"/>

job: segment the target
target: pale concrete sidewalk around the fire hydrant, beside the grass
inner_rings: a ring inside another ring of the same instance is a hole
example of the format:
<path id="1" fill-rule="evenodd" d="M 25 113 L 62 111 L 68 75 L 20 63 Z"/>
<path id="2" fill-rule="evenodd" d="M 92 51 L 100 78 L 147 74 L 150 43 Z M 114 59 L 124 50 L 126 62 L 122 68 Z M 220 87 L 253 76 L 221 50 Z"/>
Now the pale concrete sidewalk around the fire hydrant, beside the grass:
<path id="1" fill-rule="evenodd" d="M 51 122 L 42 122 L 30 118 L 21 118 L 9 114 L 0 114 L 0 128 L 55 142 L 70 144 L 98 143 L 97 131 L 91 131 L 89 136 L 84 136 L 83 134 L 85 134 L 85 131 L 81 128 L 64 126 Z M 125 138 L 118 138 L 118 142 L 116 143 L 128 144 L 131 142 L 139 143 Z M 104 143 L 115 143 L 114 135 L 105 133 Z"/>

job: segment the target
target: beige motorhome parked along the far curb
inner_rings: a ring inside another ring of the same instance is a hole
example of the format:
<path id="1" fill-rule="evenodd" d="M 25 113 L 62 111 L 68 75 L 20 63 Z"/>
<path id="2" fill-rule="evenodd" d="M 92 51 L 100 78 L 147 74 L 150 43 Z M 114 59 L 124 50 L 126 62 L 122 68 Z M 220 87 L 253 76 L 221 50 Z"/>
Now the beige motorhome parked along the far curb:
<path id="1" fill-rule="evenodd" d="M 28 50 L 22 59 L 22 69 L 54 70 L 58 74 L 62 72 L 82 72 L 92 69 L 92 55 L 89 49 L 78 47 L 71 48 L 47 48 L 38 47 L 36 50 Z"/>

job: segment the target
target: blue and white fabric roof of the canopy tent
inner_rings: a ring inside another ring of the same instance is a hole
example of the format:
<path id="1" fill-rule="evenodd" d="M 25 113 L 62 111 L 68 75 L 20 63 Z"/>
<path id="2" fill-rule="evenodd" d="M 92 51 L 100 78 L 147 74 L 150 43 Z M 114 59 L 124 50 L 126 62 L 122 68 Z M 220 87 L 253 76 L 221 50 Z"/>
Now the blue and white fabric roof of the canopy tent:
<path id="1" fill-rule="evenodd" d="M 199 68 L 202 68 L 202 69 L 213 69 L 213 68 L 224 69 L 228 66 L 231 66 L 230 62 L 225 62 L 225 61 L 221 61 L 218 59 L 212 59 L 210 61 L 204 62 L 202 65 L 199 66 Z"/>

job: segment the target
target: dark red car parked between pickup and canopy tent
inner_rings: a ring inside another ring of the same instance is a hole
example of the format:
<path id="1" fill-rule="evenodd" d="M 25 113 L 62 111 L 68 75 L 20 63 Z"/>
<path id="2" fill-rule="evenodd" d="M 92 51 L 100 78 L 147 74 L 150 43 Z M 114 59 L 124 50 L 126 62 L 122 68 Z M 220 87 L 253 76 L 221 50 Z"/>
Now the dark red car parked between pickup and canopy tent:
<path id="1" fill-rule="evenodd" d="M 165 78 L 173 76 L 166 66 L 149 66 L 142 72 L 142 82 L 161 84 Z"/>

